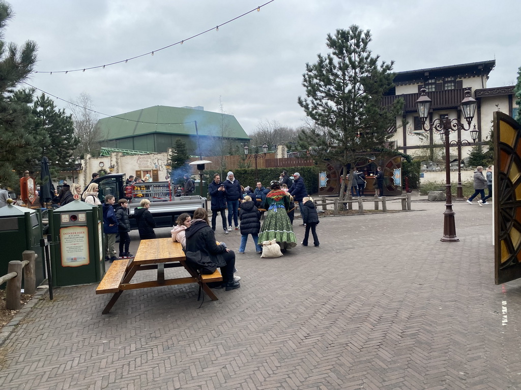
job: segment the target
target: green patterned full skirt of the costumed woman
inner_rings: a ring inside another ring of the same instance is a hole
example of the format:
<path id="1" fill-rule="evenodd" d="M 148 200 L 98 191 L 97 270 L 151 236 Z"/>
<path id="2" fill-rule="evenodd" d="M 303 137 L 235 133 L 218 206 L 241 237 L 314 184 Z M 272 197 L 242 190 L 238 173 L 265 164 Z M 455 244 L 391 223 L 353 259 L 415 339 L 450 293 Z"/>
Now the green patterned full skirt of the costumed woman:
<path id="1" fill-rule="evenodd" d="M 275 239 L 280 249 L 294 248 L 296 237 L 286 209 L 268 210 L 259 233 L 259 243 Z"/>

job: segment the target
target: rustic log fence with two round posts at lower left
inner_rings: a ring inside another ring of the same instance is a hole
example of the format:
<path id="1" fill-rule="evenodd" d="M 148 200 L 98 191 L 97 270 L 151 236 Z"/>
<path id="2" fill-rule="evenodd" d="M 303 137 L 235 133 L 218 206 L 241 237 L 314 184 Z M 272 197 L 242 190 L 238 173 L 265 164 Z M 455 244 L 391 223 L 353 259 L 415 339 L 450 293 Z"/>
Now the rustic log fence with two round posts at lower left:
<path id="1" fill-rule="evenodd" d="M 21 307 L 22 273 L 24 293 L 34 294 L 36 292 L 36 275 L 34 273 L 36 256 L 38 255 L 34 251 L 22 252 L 23 261 L 10 261 L 7 267 L 7 275 L 0 277 L 0 284 L 7 282 L 5 300 L 7 309 L 19 310 Z"/>

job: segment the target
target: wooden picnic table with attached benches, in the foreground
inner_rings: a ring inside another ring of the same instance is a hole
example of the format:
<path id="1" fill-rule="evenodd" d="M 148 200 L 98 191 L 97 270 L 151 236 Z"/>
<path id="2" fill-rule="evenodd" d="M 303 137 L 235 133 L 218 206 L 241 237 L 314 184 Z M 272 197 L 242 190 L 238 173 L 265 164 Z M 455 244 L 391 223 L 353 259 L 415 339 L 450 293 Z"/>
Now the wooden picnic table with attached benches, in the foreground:
<path id="1" fill-rule="evenodd" d="M 187 266 L 184 260 L 185 257 L 181 243 L 172 242 L 171 238 L 141 240 L 135 257 L 114 261 L 114 263 L 110 265 L 100 285 L 98 285 L 96 294 L 114 293 L 102 313 L 109 313 L 119 296 L 125 290 L 163 287 L 166 285 L 199 283 L 200 293 L 201 289 L 203 289 L 212 301 L 217 301 L 217 296 L 210 290 L 206 283 L 222 281 L 219 270 L 217 269 L 211 275 L 197 275 L 195 271 Z M 173 267 L 184 267 L 190 276 L 165 279 L 165 268 Z M 136 272 L 150 269 L 157 269 L 156 280 L 130 283 Z"/>

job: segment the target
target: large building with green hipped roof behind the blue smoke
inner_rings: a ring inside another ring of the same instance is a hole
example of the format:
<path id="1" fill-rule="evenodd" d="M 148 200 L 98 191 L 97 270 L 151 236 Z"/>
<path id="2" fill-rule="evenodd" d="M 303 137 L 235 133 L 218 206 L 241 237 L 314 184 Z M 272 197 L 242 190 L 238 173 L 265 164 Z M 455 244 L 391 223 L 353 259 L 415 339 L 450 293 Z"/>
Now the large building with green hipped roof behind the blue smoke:
<path id="1" fill-rule="evenodd" d="M 102 141 L 106 148 L 166 152 L 180 138 L 187 144 L 188 153 L 202 154 L 215 148 L 219 138 L 249 141 L 242 126 L 233 115 L 204 111 L 202 107 L 154 106 L 100 119 Z"/>

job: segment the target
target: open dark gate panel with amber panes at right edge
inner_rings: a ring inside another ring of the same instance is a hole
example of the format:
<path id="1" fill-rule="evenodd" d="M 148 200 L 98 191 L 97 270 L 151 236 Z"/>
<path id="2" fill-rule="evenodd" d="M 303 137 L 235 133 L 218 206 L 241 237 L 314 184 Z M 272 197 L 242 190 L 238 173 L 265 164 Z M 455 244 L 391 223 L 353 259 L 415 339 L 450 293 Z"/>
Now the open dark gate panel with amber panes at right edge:
<path id="1" fill-rule="evenodd" d="M 521 278 L 521 126 L 494 112 L 495 284 Z"/>

